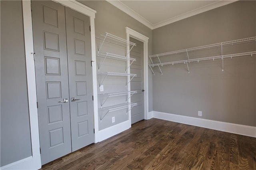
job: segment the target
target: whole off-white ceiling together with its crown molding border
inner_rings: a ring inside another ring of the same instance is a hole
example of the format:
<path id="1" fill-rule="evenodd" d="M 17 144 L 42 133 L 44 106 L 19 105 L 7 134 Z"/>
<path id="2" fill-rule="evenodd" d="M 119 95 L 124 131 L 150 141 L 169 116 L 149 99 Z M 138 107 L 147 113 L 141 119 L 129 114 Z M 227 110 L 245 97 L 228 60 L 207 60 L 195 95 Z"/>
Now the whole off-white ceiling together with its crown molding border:
<path id="1" fill-rule="evenodd" d="M 152 30 L 236 0 L 107 0 Z"/>

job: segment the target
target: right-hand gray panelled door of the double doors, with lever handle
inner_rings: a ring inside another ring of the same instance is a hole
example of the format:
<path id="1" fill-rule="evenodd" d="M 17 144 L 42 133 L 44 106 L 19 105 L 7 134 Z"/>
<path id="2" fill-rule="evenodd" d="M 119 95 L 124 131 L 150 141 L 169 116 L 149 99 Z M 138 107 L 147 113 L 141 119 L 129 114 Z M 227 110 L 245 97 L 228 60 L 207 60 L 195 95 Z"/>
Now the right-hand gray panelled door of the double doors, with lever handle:
<path id="1" fill-rule="evenodd" d="M 72 151 L 75 151 L 94 142 L 90 18 L 66 8 L 66 36 Z"/>

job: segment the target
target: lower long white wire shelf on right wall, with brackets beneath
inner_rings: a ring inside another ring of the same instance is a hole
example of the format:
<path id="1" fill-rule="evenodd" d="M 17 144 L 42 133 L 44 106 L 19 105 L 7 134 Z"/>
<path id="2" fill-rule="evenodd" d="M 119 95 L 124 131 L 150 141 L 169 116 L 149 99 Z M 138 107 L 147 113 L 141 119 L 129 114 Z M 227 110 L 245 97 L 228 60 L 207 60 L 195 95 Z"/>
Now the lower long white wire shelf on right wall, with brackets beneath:
<path id="1" fill-rule="evenodd" d="M 246 56 L 246 55 L 251 55 L 252 56 L 252 55 L 255 55 L 255 54 L 256 54 L 256 51 L 251 51 L 251 52 L 245 52 L 245 53 L 218 55 L 218 56 L 214 56 L 214 57 L 204 57 L 204 58 L 197 58 L 197 59 L 186 59 L 186 60 L 180 60 L 180 61 L 170 61 L 170 62 L 161 63 L 161 64 L 160 63 L 150 64 L 148 66 L 150 67 L 151 71 L 153 71 L 152 68 L 151 68 L 153 66 L 158 66 L 159 67 L 160 65 L 169 65 L 169 64 L 174 65 L 174 64 L 178 64 L 178 63 L 184 63 L 184 64 L 187 64 L 187 67 L 188 67 L 188 63 L 190 63 L 190 62 L 195 62 L 195 61 L 199 62 L 199 61 L 205 61 L 205 60 L 213 60 L 214 61 L 214 59 L 222 59 L 222 71 L 224 71 L 224 67 L 223 67 L 223 59 L 224 58 L 231 58 L 232 59 L 232 57 L 240 57 L 240 56 Z M 160 69 L 160 67 L 159 67 L 159 69 Z M 160 69 L 160 71 L 161 71 L 161 69 Z M 161 73 L 162 73 L 162 71 L 161 71 Z M 190 73 L 189 67 L 188 67 L 188 73 Z M 153 74 L 154 74 L 154 72 L 153 72 Z"/>

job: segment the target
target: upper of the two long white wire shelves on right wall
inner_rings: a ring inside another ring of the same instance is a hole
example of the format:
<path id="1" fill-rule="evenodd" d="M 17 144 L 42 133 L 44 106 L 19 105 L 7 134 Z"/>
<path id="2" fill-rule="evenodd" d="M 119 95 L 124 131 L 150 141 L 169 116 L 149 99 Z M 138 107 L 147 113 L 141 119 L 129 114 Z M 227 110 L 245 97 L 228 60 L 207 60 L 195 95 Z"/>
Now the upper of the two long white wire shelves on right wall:
<path id="1" fill-rule="evenodd" d="M 206 48 L 214 48 L 214 47 L 221 47 L 221 46 L 223 47 L 223 46 L 234 45 L 234 44 L 239 44 L 239 43 L 248 43 L 248 42 L 253 42 L 255 40 L 256 40 L 256 37 L 243 38 L 243 39 L 232 40 L 232 41 L 228 41 L 228 42 L 214 43 L 214 44 L 210 44 L 210 45 L 203 45 L 203 46 L 199 46 L 199 47 L 192 47 L 192 48 L 188 48 L 188 49 L 180 49 L 177 51 L 170 51 L 170 52 L 166 52 L 166 53 L 154 54 L 154 55 L 149 55 L 148 57 L 149 58 L 163 57 L 166 55 L 185 53 L 185 52 L 196 51 L 196 50 L 206 49 Z"/>

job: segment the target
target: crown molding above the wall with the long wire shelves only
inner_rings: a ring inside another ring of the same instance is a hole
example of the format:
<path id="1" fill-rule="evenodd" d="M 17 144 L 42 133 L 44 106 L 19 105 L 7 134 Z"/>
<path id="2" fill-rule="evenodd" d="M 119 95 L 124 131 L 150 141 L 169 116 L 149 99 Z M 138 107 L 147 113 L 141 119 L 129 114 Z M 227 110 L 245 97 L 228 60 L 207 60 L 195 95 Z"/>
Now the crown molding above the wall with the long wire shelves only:
<path id="1" fill-rule="evenodd" d="M 194 15 L 197 15 L 197 14 L 200 14 L 200 13 L 212 10 L 214 8 L 218 8 L 218 7 L 227 5 L 227 4 L 231 4 L 231 3 L 236 2 L 236 1 L 237 0 L 220 0 L 218 2 L 214 2 L 212 4 L 209 4 L 209 5 L 203 6 L 201 8 L 189 11 L 187 13 L 181 14 L 181 15 L 176 16 L 174 18 L 170 18 L 170 19 L 165 20 L 163 22 L 160 22 L 158 24 L 154 24 L 152 30 L 154 30 L 156 28 L 159 28 L 159 27 L 162 27 L 162 26 L 166 26 L 168 24 L 171 24 L 171 23 L 174 23 L 174 22 L 177 22 L 177 21 L 180 21 L 180 20 L 183 20 L 183 19 L 188 18 L 190 16 L 194 16 Z"/>

